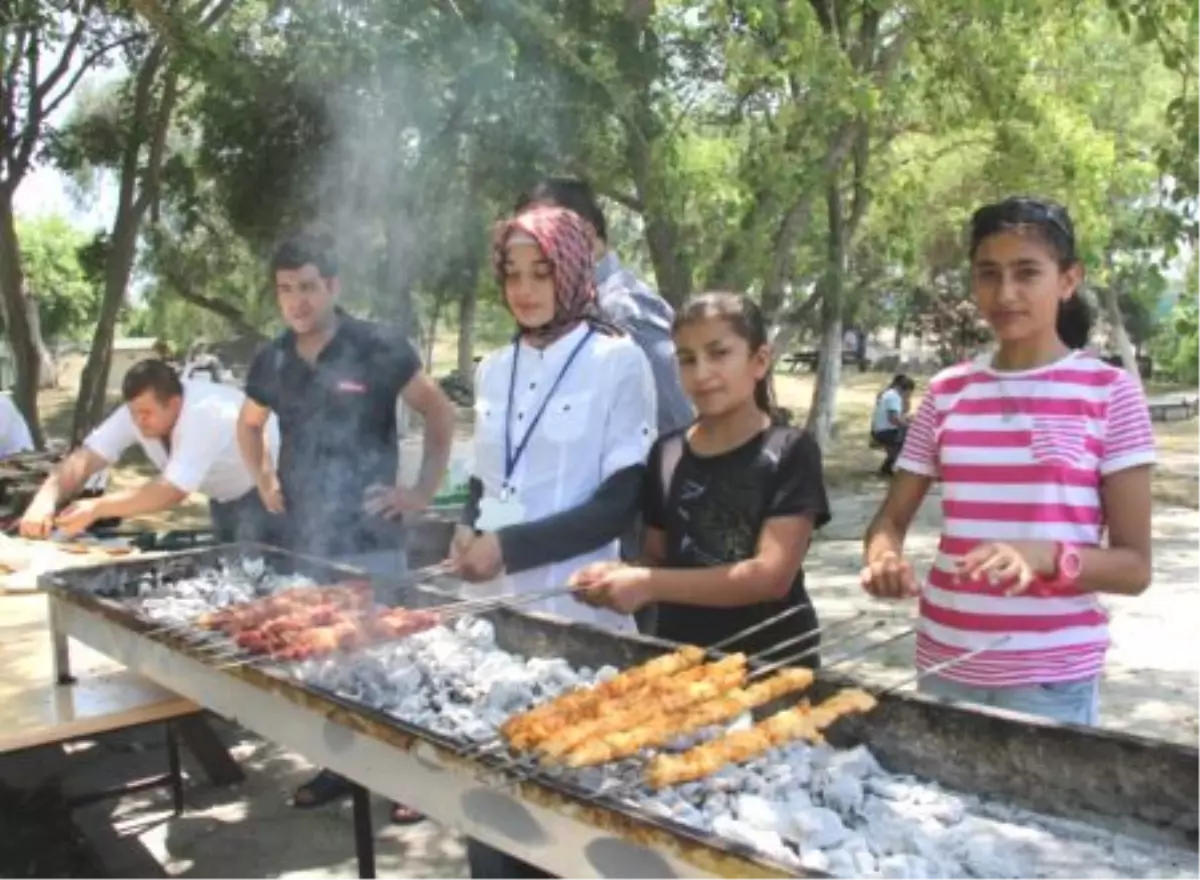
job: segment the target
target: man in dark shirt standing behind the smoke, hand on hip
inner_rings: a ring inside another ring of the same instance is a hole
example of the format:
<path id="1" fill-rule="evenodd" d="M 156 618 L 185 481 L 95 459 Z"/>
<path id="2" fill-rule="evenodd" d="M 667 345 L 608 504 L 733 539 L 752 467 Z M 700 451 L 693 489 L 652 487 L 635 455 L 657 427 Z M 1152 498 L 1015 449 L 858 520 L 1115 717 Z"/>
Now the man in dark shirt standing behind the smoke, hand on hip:
<path id="1" fill-rule="evenodd" d="M 402 517 L 427 508 L 445 474 L 454 405 L 407 340 L 337 305 L 337 259 L 326 237 L 284 241 L 271 277 L 287 330 L 251 364 L 238 420 L 242 457 L 264 504 L 281 516 L 288 547 L 366 570 L 382 581 L 377 597 L 389 601 L 383 586 L 407 570 Z M 398 402 L 425 421 L 413 486 L 397 485 Z M 277 457 L 263 433 L 272 414 Z M 346 779 L 322 771 L 294 803 L 318 807 L 349 791 Z M 398 804 L 392 810 L 397 824 L 421 818 Z"/>

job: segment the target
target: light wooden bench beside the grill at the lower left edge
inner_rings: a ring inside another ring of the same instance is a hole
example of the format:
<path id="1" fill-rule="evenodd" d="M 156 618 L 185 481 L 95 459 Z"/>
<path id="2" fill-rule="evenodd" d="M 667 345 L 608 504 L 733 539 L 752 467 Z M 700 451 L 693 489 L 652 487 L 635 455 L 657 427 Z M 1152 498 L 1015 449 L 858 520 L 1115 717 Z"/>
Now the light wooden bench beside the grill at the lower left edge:
<path id="1" fill-rule="evenodd" d="M 46 684 L 11 693 L 0 701 L 0 754 L 64 746 L 106 734 L 162 724 L 167 732 L 167 772 L 70 801 L 79 807 L 169 785 L 175 815 L 184 812 L 184 778 L 179 764 L 176 719 L 203 710 L 133 672 L 89 676 L 73 684 Z"/>

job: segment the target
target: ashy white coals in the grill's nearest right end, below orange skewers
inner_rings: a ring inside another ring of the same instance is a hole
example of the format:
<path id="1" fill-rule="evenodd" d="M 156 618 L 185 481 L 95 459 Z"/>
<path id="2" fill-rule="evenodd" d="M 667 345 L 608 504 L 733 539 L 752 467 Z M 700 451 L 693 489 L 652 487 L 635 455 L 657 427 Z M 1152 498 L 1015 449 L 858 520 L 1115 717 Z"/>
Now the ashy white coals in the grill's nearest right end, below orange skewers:
<path id="1" fill-rule="evenodd" d="M 883 771 L 802 743 L 630 801 L 809 870 L 884 880 L 1200 878 L 1200 856 Z"/>

